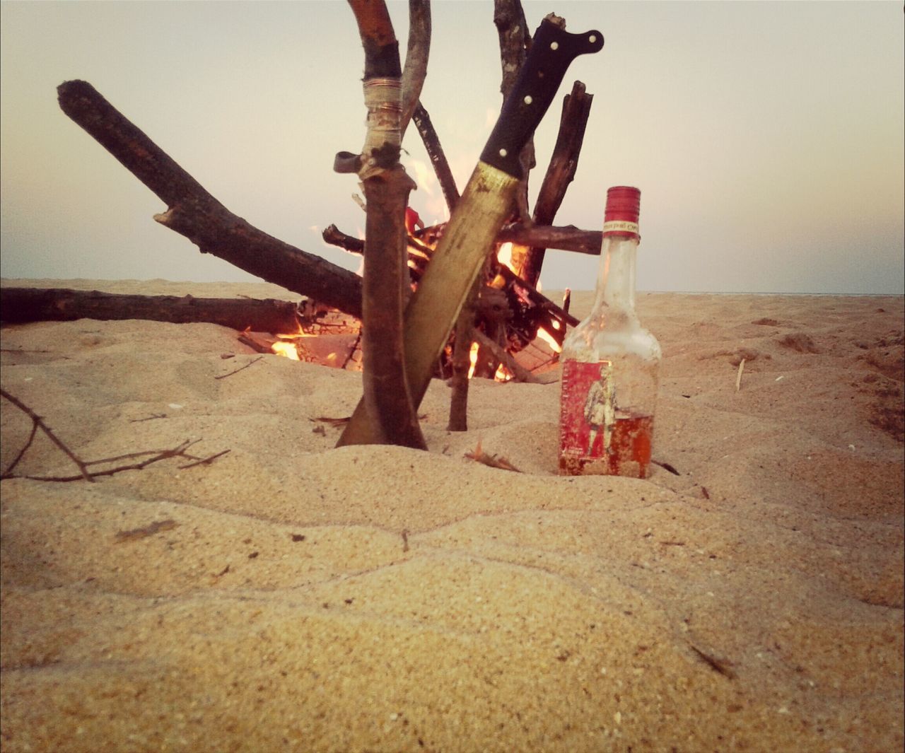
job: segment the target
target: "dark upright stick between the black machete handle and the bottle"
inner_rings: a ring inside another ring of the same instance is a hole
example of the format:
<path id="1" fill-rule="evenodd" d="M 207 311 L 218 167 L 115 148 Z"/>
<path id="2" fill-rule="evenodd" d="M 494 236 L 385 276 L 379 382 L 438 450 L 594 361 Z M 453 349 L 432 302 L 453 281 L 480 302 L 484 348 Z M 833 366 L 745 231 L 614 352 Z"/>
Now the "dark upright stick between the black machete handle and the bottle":
<path id="1" fill-rule="evenodd" d="M 553 224 L 559 206 L 566 196 L 566 190 L 575 178 L 592 100 L 594 96 L 586 93 L 585 84 L 576 81 L 572 86 L 572 93 L 567 94 L 563 101 L 557 143 L 553 148 L 553 156 L 550 157 L 544 182 L 540 186 L 538 200 L 534 204 L 532 219 L 535 224 Z M 532 285 L 538 284 L 547 248 L 548 246 L 536 243 L 525 253 L 521 276 Z"/>

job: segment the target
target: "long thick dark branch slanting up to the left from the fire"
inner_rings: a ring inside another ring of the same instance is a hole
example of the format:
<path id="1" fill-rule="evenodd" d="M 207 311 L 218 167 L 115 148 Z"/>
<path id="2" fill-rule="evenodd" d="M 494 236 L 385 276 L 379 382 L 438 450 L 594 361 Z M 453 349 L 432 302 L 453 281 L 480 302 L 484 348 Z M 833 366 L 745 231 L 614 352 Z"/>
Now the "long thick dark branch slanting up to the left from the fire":
<path id="1" fill-rule="evenodd" d="M 262 280 L 361 316 L 361 278 L 248 224 L 176 164 L 87 81 L 57 88 L 60 107 L 169 208 L 155 218 Z"/>

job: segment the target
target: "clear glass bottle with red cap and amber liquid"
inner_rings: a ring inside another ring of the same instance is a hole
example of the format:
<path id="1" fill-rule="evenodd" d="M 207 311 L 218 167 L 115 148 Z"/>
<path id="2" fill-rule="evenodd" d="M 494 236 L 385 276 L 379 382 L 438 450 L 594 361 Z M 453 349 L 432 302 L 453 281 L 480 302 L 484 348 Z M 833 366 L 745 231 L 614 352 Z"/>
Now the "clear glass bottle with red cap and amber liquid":
<path id="1" fill-rule="evenodd" d="M 568 333 L 559 414 L 559 472 L 647 477 L 660 343 L 634 310 L 641 191 L 606 192 L 594 309 Z"/>

